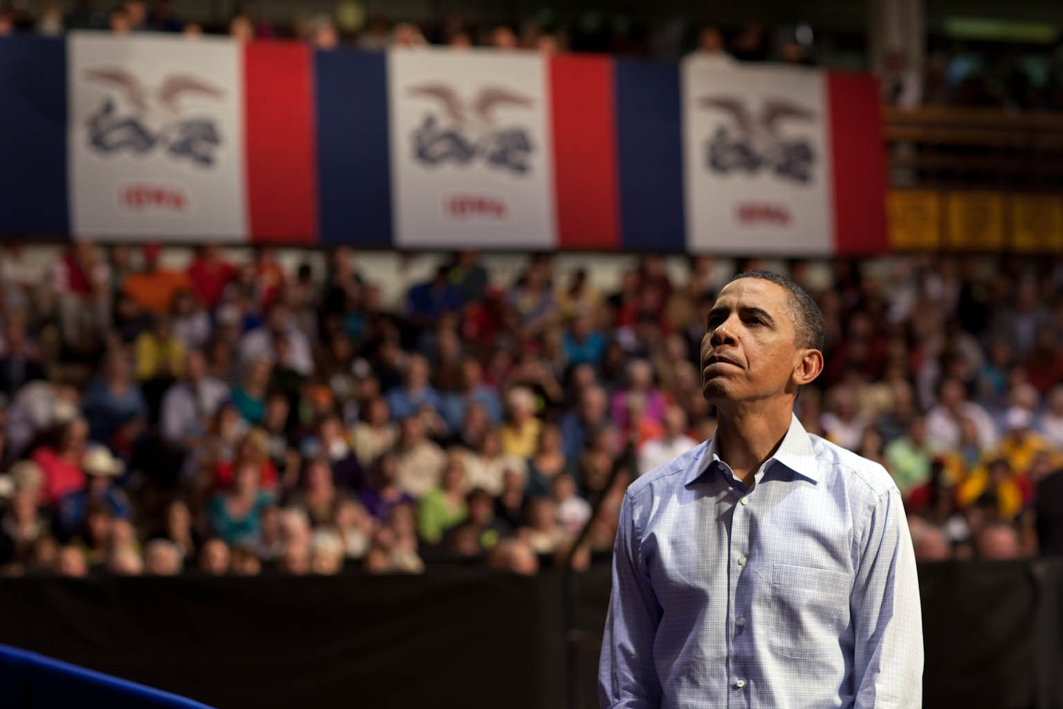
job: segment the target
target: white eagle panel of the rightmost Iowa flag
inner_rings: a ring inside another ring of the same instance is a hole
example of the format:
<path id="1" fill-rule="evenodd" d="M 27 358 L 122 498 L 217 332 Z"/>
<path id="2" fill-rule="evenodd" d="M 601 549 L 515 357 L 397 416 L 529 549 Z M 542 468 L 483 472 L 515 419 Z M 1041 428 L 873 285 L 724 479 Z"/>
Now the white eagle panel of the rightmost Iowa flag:
<path id="1" fill-rule="evenodd" d="M 825 74 L 701 57 L 680 71 L 688 249 L 832 253 Z"/>

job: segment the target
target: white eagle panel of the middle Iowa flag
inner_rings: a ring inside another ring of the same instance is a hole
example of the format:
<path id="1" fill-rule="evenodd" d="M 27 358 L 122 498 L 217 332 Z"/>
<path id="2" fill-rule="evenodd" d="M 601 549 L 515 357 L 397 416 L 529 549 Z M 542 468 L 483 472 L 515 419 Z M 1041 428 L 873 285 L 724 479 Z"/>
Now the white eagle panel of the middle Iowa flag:
<path id="1" fill-rule="evenodd" d="M 557 244 L 546 62 L 445 48 L 388 54 L 395 246 Z"/>

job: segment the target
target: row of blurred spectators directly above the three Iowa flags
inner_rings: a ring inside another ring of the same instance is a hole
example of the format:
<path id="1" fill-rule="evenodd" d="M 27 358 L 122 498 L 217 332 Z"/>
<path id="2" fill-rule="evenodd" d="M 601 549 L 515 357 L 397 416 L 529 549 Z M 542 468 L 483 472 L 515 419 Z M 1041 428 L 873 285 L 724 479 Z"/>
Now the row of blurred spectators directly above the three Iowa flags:
<path id="1" fill-rule="evenodd" d="M 611 17 L 598 13 L 580 16 L 576 21 L 562 21 L 544 11 L 540 17 L 519 24 L 469 22 L 458 14 L 450 14 L 438 22 L 420 26 L 408 21 L 391 21 L 382 17 L 366 17 L 360 10 L 337 6 L 333 15 L 297 14 L 289 22 L 271 23 L 240 5 L 227 23 L 203 26 L 184 21 L 170 0 L 121 0 L 106 10 L 92 0 L 81 0 L 74 10 L 64 12 L 57 2 L 44 4 L 39 13 L 21 14 L 0 5 L 0 36 L 16 31 L 43 35 L 60 35 L 66 30 L 109 30 L 116 34 L 131 32 L 171 32 L 198 37 L 204 32 L 229 34 L 240 40 L 263 38 L 301 38 L 317 49 L 334 49 L 345 45 L 365 50 L 392 47 L 417 49 L 429 45 L 463 49 L 473 46 L 496 49 L 538 49 L 611 52 L 632 56 L 678 55 L 691 49 L 728 55 L 743 61 L 774 60 L 808 63 L 811 61 L 811 30 L 807 24 L 769 28 L 761 21 L 747 22 L 733 33 L 730 41 L 715 27 L 701 28 L 676 20 L 653 30 L 636 27 L 629 17 Z"/>

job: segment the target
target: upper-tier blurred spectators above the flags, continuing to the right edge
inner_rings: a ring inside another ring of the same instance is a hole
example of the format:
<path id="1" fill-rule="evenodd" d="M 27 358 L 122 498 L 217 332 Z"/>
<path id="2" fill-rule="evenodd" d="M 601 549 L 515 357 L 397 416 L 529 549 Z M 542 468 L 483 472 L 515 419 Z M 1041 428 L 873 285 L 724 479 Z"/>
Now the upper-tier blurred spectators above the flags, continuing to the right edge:
<path id="1" fill-rule="evenodd" d="M 273 23 L 239 5 L 226 22 L 185 21 L 171 0 L 122 0 L 105 4 L 79 0 L 64 11 L 57 2 L 36 12 L 15 11 L 0 2 L 0 37 L 18 33 L 61 35 L 66 30 L 182 33 L 187 37 L 227 34 L 241 41 L 298 38 L 317 49 L 339 46 L 364 50 L 392 47 L 455 49 L 493 47 L 543 52 L 592 51 L 621 56 L 676 60 L 693 52 L 721 62 L 823 64 L 851 69 L 875 65 L 882 99 L 898 106 L 957 105 L 1020 111 L 1063 111 L 1063 46 L 1008 43 L 959 43 L 935 37 L 925 66 L 906 63 L 900 51 L 887 49 L 881 60 L 865 54 L 865 38 L 814 33 L 807 22 L 769 24 L 749 20 L 735 27 L 673 18 L 641 22 L 623 13 L 585 13 L 564 17 L 542 11 L 513 23 L 470 22 L 458 14 L 417 24 L 368 17 L 355 4 L 340 3 L 332 15 L 297 14 Z"/>

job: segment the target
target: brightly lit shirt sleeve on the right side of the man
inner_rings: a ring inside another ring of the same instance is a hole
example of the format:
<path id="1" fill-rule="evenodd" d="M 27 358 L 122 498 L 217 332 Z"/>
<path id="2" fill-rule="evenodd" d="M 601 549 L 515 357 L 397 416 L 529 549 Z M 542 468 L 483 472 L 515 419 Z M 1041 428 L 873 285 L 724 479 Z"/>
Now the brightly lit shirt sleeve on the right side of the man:
<path id="1" fill-rule="evenodd" d="M 923 615 L 915 553 L 896 488 L 867 521 L 850 596 L 855 709 L 923 706 Z"/>

